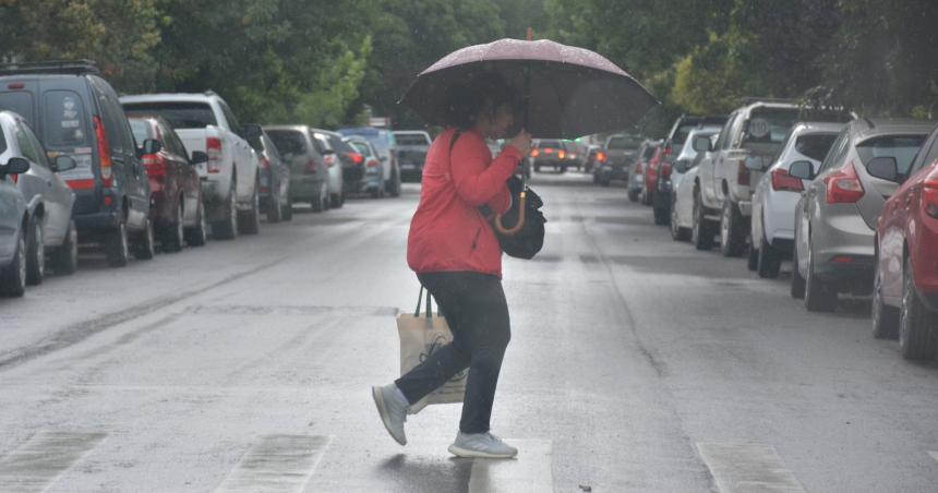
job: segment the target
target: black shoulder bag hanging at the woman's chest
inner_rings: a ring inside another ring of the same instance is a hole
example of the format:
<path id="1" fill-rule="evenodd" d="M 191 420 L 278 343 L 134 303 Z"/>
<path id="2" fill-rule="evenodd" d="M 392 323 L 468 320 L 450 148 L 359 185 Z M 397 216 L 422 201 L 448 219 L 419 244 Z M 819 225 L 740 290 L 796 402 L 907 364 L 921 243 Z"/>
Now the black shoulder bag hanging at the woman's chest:
<path id="1" fill-rule="evenodd" d="M 459 131 L 453 134 L 450 154 L 459 135 Z M 452 161 L 450 158 L 450 166 Z M 479 212 L 490 220 L 503 252 L 515 258 L 531 260 L 544 246 L 544 223 L 548 221 L 541 212 L 544 202 L 517 176 L 512 176 L 506 184 L 512 193 L 512 208 L 495 215 L 488 205 L 483 205 Z"/>

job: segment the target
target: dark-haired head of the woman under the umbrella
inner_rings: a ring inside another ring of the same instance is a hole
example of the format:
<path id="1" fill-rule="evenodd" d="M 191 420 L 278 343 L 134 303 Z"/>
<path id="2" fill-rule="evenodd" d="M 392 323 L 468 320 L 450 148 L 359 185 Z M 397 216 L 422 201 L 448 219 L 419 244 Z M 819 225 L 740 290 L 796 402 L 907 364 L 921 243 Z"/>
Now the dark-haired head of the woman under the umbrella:
<path id="1" fill-rule="evenodd" d="M 446 124 L 464 130 L 476 129 L 488 137 L 500 139 L 514 124 L 520 108 L 518 92 L 497 73 L 485 72 L 466 84 L 454 85 Z"/>

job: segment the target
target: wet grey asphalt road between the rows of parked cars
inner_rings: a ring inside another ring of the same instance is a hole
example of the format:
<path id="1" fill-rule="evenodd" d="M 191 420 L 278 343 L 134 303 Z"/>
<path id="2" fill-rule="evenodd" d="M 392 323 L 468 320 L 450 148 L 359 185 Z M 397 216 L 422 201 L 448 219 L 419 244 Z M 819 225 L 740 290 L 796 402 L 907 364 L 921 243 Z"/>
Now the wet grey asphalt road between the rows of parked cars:
<path id="1" fill-rule="evenodd" d="M 874 340 L 868 302 L 808 314 L 622 188 L 533 183 L 546 246 L 505 262 L 493 416 L 518 459 L 450 458 L 458 406 L 406 447 L 377 419 L 410 184 L 0 300 L 0 491 L 938 491 L 938 365 Z"/>

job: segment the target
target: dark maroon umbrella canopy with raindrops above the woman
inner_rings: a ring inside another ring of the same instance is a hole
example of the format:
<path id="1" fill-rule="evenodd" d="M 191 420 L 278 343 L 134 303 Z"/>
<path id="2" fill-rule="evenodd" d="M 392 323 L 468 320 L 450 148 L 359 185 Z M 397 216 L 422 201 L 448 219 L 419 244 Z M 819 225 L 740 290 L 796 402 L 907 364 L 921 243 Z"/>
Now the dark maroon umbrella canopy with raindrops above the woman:
<path id="1" fill-rule="evenodd" d="M 430 124 L 443 124 L 450 111 L 449 88 L 485 72 L 497 72 L 528 98 L 525 129 L 536 137 L 625 129 L 658 104 L 601 55 L 546 39 L 500 39 L 454 51 L 421 72 L 400 104 Z"/>

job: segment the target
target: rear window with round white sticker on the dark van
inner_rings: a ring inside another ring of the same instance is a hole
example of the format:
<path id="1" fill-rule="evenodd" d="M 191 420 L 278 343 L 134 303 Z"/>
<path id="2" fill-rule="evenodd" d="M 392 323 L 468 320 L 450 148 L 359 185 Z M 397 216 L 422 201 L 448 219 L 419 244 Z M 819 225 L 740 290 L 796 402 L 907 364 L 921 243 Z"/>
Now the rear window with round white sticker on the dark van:
<path id="1" fill-rule="evenodd" d="M 87 145 L 85 105 L 81 96 L 71 91 L 47 91 L 43 99 L 43 141 L 46 146 Z"/>

